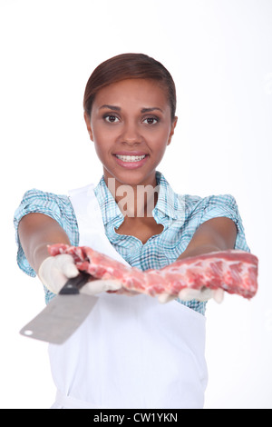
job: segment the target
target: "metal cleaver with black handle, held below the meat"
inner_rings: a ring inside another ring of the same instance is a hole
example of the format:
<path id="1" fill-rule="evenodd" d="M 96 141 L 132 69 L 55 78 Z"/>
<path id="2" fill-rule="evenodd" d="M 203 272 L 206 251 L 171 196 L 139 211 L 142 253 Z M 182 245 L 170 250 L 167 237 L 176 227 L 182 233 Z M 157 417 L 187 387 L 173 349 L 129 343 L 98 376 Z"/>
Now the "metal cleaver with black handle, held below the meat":
<path id="1" fill-rule="evenodd" d="M 64 343 L 97 303 L 98 297 L 80 293 L 80 289 L 90 277 L 92 276 L 88 273 L 79 273 L 69 279 L 60 293 L 54 296 L 44 310 L 27 323 L 20 333 L 46 343 Z"/>

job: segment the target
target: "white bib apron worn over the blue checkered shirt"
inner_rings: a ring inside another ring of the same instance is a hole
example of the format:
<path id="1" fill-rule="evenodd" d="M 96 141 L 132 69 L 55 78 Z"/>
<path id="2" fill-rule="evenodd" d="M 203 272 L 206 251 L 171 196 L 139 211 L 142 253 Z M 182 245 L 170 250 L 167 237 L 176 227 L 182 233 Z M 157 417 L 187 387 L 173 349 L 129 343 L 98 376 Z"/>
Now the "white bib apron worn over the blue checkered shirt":
<path id="1" fill-rule="evenodd" d="M 126 263 L 104 233 L 89 185 L 70 193 L 80 245 Z M 147 295 L 101 293 L 63 345 L 49 345 L 53 408 L 202 408 L 207 385 L 206 319 Z"/>

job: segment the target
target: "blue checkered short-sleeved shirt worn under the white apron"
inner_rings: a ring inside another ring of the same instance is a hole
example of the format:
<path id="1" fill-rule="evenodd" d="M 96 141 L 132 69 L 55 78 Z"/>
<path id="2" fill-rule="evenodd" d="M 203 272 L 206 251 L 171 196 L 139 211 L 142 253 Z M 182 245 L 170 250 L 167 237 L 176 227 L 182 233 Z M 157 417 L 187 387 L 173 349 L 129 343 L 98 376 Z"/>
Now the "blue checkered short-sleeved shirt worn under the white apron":
<path id="1" fill-rule="evenodd" d="M 157 172 L 157 184 L 160 185 L 158 202 L 153 209 L 157 223 L 163 225 L 163 231 L 152 236 L 146 243 L 131 235 L 116 233 L 121 225 L 123 215 L 116 204 L 102 177 L 94 189 L 100 204 L 105 233 L 113 247 L 133 267 L 142 271 L 160 269 L 173 263 L 183 253 L 193 234 L 201 223 L 211 218 L 225 216 L 233 220 L 238 229 L 235 248 L 249 252 L 243 224 L 238 213 L 238 205 L 230 194 L 210 195 L 201 198 L 189 194 L 176 194 L 164 176 Z M 24 273 L 35 277 L 33 268 L 28 263 L 18 238 L 18 223 L 25 214 L 40 213 L 51 216 L 67 233 L 72 245 L 79 244 L 79 230 L 73 205 L 67 195 L 44 193 L 33 189 L 24 194 L 23 200 L 15 211 L 16 242 L 18 245 L 17 263 Z M 45 301 L 53 297 L 44 288 Z M 205 314 L 206 303 L 192 300 L 184 303 L 198 313 Z"/>

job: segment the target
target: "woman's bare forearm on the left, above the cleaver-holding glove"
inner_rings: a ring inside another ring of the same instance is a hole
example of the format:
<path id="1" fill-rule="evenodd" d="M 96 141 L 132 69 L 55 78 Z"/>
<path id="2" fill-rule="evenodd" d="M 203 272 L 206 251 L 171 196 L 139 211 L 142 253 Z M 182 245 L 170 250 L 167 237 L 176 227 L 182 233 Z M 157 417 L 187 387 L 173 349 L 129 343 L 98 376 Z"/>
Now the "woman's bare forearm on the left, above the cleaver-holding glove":
<path id="1" fill-rule="evenodd" d="M 63 228 L 45 214 L 27 214 L 19 223 L 18 233 L 27 261 L 38 273 L 41 263 L 49 257 L 48 244 L 71 244 Z"/>

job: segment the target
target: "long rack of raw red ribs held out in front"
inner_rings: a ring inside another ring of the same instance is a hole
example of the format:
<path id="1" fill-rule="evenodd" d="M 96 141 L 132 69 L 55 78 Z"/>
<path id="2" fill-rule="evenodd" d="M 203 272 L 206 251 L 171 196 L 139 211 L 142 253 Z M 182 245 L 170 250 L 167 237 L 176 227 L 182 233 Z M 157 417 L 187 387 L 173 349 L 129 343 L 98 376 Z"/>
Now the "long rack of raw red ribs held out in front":
<path id="1" fill-rule="evenodd" d="M 248 299 L 257 293 L 257 257 L 244 251 L 205 253 L 176 261 L 160 270 L 141 272 L 87 246 L 53 244 L 48 250 L 51 255 L 71 254 L 80 271 L 97 279 L 119 280 L 131 292 L 151 296 L 167 293 L 177 297 L 185 288 L 201 290 L 206 287 L 238 293 Z"/>

